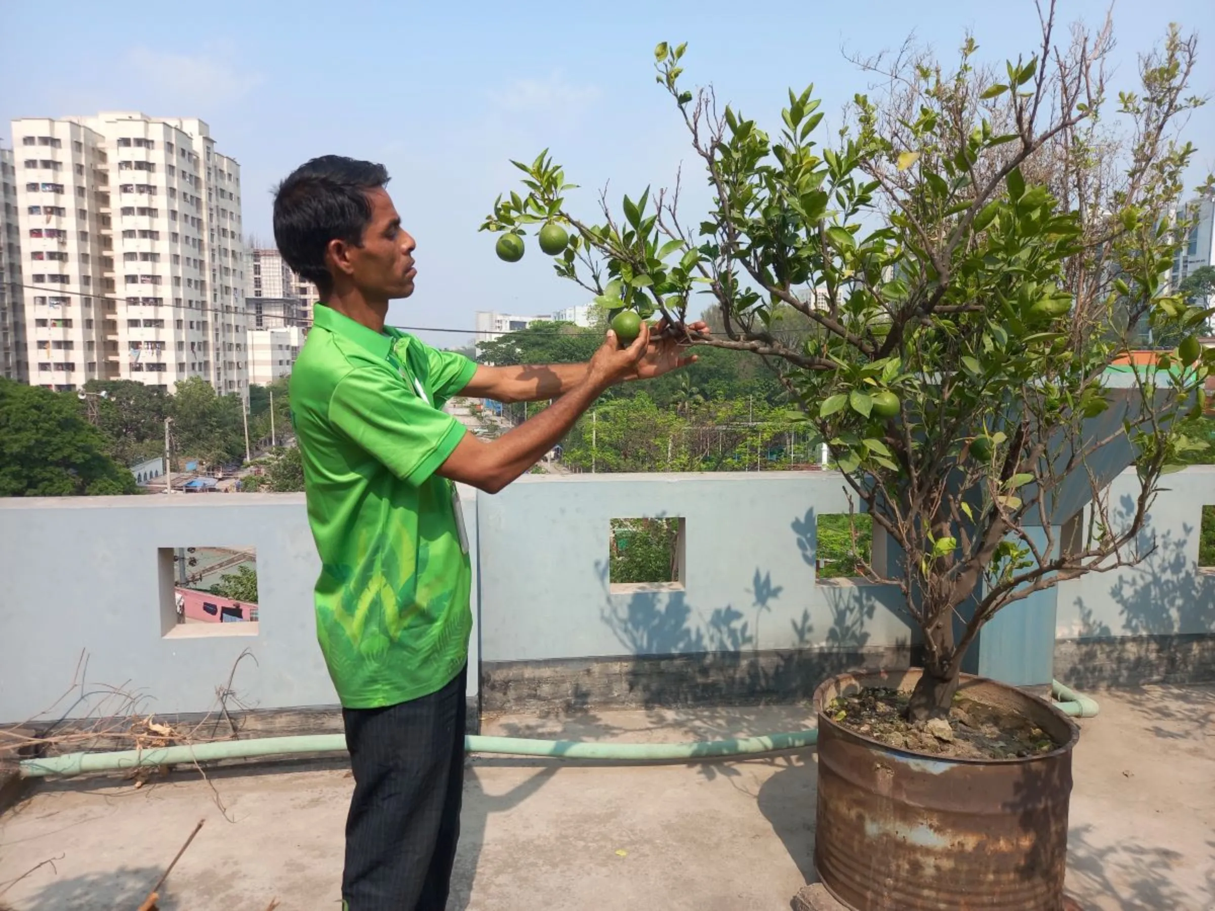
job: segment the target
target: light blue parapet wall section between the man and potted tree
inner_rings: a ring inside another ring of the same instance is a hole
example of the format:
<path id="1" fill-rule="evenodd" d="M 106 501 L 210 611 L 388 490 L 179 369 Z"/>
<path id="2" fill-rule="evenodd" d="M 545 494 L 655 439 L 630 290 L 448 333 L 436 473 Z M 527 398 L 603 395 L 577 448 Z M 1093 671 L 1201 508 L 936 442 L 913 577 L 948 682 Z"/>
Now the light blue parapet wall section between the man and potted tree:
<path id="1" fill-rule="evenodd" d="M 527 477 L 477 499 L 485 661 L 906 644 L 889 585 L 818 585 L 833 473 Z M 610 522 L 683 520 L 680 587 L 608 577 Z"/>

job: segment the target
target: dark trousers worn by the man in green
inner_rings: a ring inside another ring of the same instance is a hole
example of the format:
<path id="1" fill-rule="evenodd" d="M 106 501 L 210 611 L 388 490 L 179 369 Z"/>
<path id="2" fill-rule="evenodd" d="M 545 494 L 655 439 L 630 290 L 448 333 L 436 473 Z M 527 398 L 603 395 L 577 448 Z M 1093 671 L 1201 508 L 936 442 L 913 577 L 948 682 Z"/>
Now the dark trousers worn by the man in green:
<path id="1" fill-rule="evenodd" d="M 464 786 L 465 668 L 439 692 L 346 708 L 355 793 L 341 898 L 349 911 L 443 911 Z"/>

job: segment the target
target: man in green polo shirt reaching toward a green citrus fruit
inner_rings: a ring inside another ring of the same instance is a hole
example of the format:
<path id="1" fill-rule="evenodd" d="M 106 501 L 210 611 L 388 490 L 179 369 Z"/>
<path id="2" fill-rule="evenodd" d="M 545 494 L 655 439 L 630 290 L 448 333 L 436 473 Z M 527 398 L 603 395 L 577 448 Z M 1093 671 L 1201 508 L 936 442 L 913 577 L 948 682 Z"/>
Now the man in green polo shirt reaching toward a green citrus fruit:
<path id="1" fill-rule="evenodd" d="M 341 701 L 355 792 L 349 911 L 442 911 L 463 792 L 471 572 L 454 482 L 497 493 L 609 386 L 689 363 L 648 327 L 589 363 L 484 367 L 384 326 L 413 293 L 416 243 L 382 165 L 316 158 L 275 194 L 283 259 L 323 302 L 292 373 L 292 421 L 321 555 L 316 627 Z M 689 327 L 705 332 L 703 323 Z M 492 442 L 453 395 L 554 400 Z"/>

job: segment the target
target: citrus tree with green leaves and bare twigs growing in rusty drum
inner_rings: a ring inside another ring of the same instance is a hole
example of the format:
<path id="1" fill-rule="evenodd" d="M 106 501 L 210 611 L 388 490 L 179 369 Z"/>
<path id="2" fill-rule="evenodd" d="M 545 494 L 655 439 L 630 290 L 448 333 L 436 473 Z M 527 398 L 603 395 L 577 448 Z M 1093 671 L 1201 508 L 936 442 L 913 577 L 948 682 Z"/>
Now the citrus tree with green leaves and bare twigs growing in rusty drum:
<path id="1" fill-rule="evenodd" d="M 1170 28 L 1136 91 L 1112 100 L 1109 23 L 1062 41 L 1053 7 L 1041 24 L 1036 53 L 999 69 L 972 39 L 949 64 L 915 50 L 864 62 L 883 87 L 857 95 L 826 140 L 813 86 L 789 91 L 768 132 L 686 87 L 685 46 L 660 44 L 657 81 L 703 168 L 707 210 L 680 210 L 677 180 L 618 208 L 604 194 L 586 216 L 546 152 L 516 163 L 520 192 L 482 226 L 520 243 L 565 226 L 556 273 L 600 305 L 682 332 L 705 293 L 724 332 L 688 341 L 782 366 L 849 496 L 900 551 L 897 572 L 861 568 L 900 587 L 922 632 L 915 719 L 948 713 L 998 611 L 1147 555 L 1145 516 L 1196 445 L 1185 418 L 1215 362 L 1194 338 L 1205 312 L 1168 285 L 1193 155 L 1179 120 L 1202 103 L 1187 96 L 1193 38 Z M 781 307 L 816 332 L 773 332 Z M 1180 344 L 1130 356 L 1143 327 Z M 1131 463 L 1138 496 L 1112 505 L 1108 481 Z M 1086 500 L 1087 528 L 1061 547 Z"/>

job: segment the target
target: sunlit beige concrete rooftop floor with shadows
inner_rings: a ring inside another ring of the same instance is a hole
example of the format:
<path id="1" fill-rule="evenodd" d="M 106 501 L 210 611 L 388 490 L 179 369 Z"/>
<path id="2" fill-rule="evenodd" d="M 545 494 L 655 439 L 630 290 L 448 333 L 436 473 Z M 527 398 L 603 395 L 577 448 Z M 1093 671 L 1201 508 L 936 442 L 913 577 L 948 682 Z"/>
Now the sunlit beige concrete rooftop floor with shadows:
<path id="1" fill-rule="evenodd" d="M 1068 887 L 1086 909 L 1215 909 L 1215 689 L 1094 694 Z M 689 740 L 792 730 L 797 707 L 493 719 L 488 734 Z M 44 782 L 0 817 L 0 904 L 135 911 L 199 819 L 163 911 L 337 909 L 341 762 Z M 475 758 L 451 910 L 779 911 L 813 878 L 813 751 L 695 765 Z M 217 803 L 222 802 L 226 815 Z M 43 860 L 47 864 L 7 887 Z"/>

